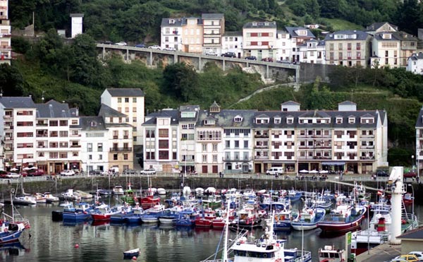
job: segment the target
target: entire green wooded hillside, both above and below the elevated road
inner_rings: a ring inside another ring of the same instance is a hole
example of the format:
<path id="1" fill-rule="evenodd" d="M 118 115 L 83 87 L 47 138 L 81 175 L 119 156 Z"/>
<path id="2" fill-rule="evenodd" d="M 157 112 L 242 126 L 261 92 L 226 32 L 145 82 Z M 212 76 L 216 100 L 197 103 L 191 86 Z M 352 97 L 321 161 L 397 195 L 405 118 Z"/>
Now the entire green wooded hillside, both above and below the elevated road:
<path id="1" fill-rule="evenodd" d="M 120 57 L 99 61 L 98 40 L 158 42 L 163 17 L 224 13 L 226 30 L 240 30 L 249 20 L 275 20 L 278 27 L 320 23 L 324 30 L 360 29 L 373 22 L 389 21 L 416 34 L 423 28 L 423 4 L 417 0 L 13 0 L 11 21 L 23 28 L 32 21 L 45 37 L 35 44 L 13 38 L 13 51 L 21 54 L 12 66 L 0 66 L 4 95 L 32 95 L 35 102 L 54 99 L 79 107 L 82 114 L 97 114 L 105 88 L 142 88 L 151 112 L 178 105 L 207 108 L 216 101 L 223 108 L 277 110 L 281 102 L 295 100 L 302 109 L 336 109 L 352 100 L 359 109 L 386 109 L 391 165 L 410 164 L 414 153 L 415 121 L 423 101 L 423 79 L 403 69 L 346 69 L 339 66 L 331 83 L 316 79 L 299 91 L 281 87 L 238 102 L 264 87 L 258 74 L 240 69 L 221 71 L 207 64 L 197 73 L 186 64 L 147 69 Z M 71 44 L 56 29 L 69 29 L 69 13 L 84 13 L 86 34 Z M 318 31 L 314 31 L 319 35 Z"/>

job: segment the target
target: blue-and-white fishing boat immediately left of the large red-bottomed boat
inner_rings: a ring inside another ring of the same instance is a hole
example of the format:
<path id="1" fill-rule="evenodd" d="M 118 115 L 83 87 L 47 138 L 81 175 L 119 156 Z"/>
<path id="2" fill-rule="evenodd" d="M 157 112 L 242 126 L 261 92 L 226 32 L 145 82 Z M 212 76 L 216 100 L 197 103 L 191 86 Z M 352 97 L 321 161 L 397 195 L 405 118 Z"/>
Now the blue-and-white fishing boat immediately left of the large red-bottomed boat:
<path id="1" fill-rule="evenodd" d="M 301 212 L 295 216 L 291 226 L 294 230 L 314 230 L 317 224 L 324 219 L 326 210 L 324 208 L 302 208 Z"/>

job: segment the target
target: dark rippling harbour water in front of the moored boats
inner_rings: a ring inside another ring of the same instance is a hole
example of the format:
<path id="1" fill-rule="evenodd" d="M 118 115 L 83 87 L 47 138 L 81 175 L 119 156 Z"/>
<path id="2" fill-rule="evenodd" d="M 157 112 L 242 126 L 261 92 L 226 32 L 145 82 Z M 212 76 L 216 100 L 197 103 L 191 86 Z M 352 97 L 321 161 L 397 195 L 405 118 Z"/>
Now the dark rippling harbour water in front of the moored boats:
<path id="1" fill-rule="evenodd" d="M 78 224 L 54 222 L 51 211 L 61 208 L 52 204 L 19 207 L 19 213 L 28 218 L 31 229 L 20 237 L 20 244 L 12 249 L 0 246 L 0 261 L 123 261 L 123 251 L 140 248 L 137 261 L 197 262 L 216 251 L 222 230 L 176 228 L 159 224 L 110 225 L 92 222 Z M 422 220 L 423 206 L 415 206 L 415 213 Z M 6 206 L 10 210 L 10 206 Z M 367 220 L 363 221 L 365 227 Z M 262 230 L 252 232 L 260 237 Z M 322 236 L 321 230 L 278 232 L 286 238 L 286 247 L 312 251 L 313 261 L 318 261 L 317 251 L 325 245 L 345 248 L 345 236 Z M 234 237 L 231 233 L 230 237 Z M 77 246 L 78 245 L 78 246 Z M 213 257 L 212 257 L 213 258 Z"/>

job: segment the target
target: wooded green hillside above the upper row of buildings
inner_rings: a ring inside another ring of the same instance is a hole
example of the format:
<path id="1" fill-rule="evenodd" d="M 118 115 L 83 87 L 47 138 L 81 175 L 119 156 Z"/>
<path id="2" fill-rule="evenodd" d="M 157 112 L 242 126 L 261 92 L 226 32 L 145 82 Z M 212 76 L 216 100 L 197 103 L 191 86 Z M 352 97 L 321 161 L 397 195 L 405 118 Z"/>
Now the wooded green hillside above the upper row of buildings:
<path id="1" fill-rule="evenodd" d="M 35 12 L 36 30 L 69 30 L 69 13 L 84 13 L 87 34 L 114 42 L 157 43 L 161 18 L 202 13 L 224 13 L 227 31 L 241 30 L 250 20 L 274 20 L 279 28 L 319 23 L 325 30 L 337 30 L 339 20 L 353 23 L 350 29 L 388 21 L 414 35 L 423 28 L 418 0 L 13 0 L 9 5 L 16 28 L 30 25 Z"/>

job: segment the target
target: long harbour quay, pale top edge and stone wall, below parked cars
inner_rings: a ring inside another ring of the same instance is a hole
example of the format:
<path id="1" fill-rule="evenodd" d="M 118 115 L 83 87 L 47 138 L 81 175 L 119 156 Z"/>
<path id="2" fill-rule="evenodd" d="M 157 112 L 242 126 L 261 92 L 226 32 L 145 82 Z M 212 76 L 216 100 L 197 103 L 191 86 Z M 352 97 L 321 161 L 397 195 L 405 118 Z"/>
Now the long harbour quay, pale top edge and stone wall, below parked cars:
<path id="1" fill-rule="evenodd" d="M 302 191 L 321 191 L 329 189 L 331 191 L 350 191 L 354 183 L 367 186 L 368 189 L 374 189 L 374 193 L 380 189 L 386 189 L 388 177 L 373 177 L 369 175 L 348 174 L 341 177 L 329 175 L 322 180 L 319 177 L 298 177 L 295 175 L 283 175 L 279 177 L 266 174 L 225 174 L 219 177 L 219 174 L 154 174 L 146 175 L 119 175 L 119 176 L 87 176 L 76 175 L 73 177 L 23 177 L 20 179 L 0 179 L 0 193 L 5 197 L 15 189 L 21 193 L 51 192 L 61 193 L 67 189 L 79 189 L 82 191 L 95 191 L 96 189 L 113 189 L 114 186 L 127 187 L 129 184 L 132 189 L 145 190 L 149 187 L 164 188 L 166 190 L 178 191 L 183 186 L 190 186 L 192 189 L 202 187 L 214 187 L 216 189 L 238 190 L 280 190 L 297 189 Z M 408 179 L 407 191 L 415 194 L 415 198 L 423 197 L 423 184 Z"/>

